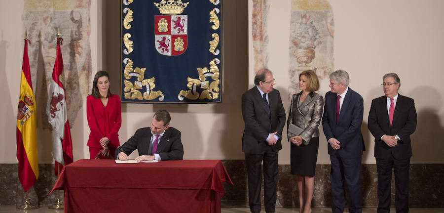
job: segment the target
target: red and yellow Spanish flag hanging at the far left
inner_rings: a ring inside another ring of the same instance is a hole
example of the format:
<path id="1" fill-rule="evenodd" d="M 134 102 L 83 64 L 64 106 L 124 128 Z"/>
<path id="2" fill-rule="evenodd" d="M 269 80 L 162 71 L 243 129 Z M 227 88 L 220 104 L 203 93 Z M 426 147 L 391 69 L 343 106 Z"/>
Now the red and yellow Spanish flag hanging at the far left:
<path id="1" fill-rule="evenodd" d="M 23 50 L 20 100 L 17 113 L 17 160 L 18 175 L 23 190 L 28 191 L 38 178 L 38 155 L 36 137 L 36 99 L 28 60 L 28 39 Z"/>

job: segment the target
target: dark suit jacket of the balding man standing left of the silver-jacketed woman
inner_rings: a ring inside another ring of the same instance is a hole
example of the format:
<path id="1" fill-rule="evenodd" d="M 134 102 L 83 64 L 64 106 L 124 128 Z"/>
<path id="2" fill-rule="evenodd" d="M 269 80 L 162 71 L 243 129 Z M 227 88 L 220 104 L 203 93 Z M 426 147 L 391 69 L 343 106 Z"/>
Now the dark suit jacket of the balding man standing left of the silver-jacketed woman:
<path id="1" fill-rule="evenodd" d="M 271 119 L 266 111 L 262 96 L 256 85 L 242 95 L 242 117 L 245 122 L 242 136 L 242 151 L 249 154 L 263 154 L 268 146 L 265 141 L 269 133 L 277 132 L 279 140 L 272 145 L 273 151 L 282 149 L 282 129 L 285 126 L 285 110 L 279 90 L 268 93 Z"/>

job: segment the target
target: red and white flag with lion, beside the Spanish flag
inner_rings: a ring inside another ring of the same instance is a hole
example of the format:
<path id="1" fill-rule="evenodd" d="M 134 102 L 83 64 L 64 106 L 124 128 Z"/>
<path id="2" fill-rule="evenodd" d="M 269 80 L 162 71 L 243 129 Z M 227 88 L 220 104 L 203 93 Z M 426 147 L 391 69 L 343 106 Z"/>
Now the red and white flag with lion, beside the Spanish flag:
<path id="1" fill-rule="evenodd" d="M 73 143 L 66 109 L 65 89 L 59 78 L 63 73 L 63 59 L 60 50 L 62 41 L 62 38 L 57 39 L 57 56 L 46 105 L 48 121 L 52 125 L 52 157 L 56 173 L 59 168 L 58 164 L 66 166 L 73 163 Z"/>

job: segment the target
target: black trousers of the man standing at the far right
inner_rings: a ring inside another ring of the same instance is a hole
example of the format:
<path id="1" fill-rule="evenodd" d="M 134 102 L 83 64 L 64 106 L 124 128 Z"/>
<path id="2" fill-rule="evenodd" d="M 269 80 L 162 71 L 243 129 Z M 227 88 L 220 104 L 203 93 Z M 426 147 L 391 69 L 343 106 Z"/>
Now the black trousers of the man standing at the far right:
<path id="1" fill-rule="evenodd" d="M 395 173 L 395 208 L 397 213 L 408 213 L 408 176 L 410 158 L 397 160 L 376 158 L 378 171 L 378 213 L 390 212 L 392 170 Z"/>

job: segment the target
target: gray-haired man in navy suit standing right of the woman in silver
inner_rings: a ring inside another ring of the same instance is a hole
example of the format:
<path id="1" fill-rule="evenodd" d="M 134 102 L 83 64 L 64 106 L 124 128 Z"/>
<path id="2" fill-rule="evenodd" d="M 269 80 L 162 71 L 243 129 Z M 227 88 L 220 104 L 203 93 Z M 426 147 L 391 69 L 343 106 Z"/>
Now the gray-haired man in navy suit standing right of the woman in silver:
<path id="1" fill-rule="evenodd" d="M 361 162 L 365 145 L 361 124 L 364 100 L 348 87 L 349 82 L 348 73 L 343 70 L 330 74 L 331 91 L 325 94 L 324 101 L 322 126 L 332 162 L 333 213 L 344 212 L 344 179 L 350 194 L 349 212 L 362 213 Z"/>

